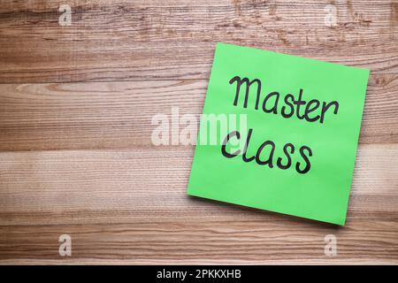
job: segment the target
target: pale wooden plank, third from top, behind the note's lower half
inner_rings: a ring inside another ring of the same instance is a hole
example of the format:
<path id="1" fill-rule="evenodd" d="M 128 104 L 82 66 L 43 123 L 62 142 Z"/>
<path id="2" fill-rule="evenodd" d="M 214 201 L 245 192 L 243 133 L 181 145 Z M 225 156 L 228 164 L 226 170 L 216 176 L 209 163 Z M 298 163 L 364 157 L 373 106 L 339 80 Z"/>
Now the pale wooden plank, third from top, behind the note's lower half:
<path id="1" fill-rule="evenodd" d="M 397 155 L 398 144 L 359 147 L 348 227 L 398 218 Z M 0 225 L 287 218 L 188 197 L 192 156 L 192 147 L 2 152 Z"/>

